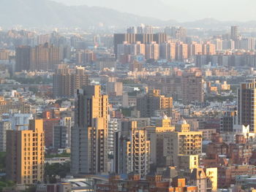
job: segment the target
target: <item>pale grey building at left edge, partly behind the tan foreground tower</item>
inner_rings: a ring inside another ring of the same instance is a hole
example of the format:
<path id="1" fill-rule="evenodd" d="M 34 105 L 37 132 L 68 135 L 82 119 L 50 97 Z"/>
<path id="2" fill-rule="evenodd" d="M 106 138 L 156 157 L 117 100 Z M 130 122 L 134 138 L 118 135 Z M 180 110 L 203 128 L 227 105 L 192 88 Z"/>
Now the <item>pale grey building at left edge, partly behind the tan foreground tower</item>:
<path id="1" fill-rule="evenodd" d="M 0 122 L 0 152 L 6 151 L 7 130 L 12 130 L 12 123 L 9 120 L 2 120 Z"/>

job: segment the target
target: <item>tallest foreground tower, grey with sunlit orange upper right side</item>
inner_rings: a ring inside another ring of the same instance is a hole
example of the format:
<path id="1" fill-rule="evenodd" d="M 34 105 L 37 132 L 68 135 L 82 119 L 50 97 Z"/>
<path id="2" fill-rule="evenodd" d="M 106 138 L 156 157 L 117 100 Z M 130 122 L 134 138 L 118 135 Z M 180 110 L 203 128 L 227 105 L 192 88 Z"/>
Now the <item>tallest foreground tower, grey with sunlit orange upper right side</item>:
<path id="1" fill-rule="evenodd" d="M 75 99 L 71 139 L 72 174 L 108 172 L 108 96 L 100 85 L 86 85 Z"/>

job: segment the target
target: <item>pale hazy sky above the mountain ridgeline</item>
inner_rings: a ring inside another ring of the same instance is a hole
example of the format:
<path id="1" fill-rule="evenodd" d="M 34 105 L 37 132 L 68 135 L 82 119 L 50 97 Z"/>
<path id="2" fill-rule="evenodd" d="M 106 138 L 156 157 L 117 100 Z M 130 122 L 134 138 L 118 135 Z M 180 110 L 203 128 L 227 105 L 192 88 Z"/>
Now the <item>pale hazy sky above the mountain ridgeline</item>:
<path id="1" fill-rule="evenodd" d="M 86 4 L 164 20 L 256 20 L 255 0 L 52 0 L 68 5 Z"/>

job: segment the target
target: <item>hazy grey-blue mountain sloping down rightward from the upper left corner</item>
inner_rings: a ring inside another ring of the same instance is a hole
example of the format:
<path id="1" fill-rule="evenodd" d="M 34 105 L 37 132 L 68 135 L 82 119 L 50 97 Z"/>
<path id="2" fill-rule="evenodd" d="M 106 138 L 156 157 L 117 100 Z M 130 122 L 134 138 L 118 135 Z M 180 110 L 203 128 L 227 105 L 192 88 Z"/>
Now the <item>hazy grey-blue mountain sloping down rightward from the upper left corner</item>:
<path id="1" fill-rule="evenodd" d="M 49 0 L 1 0 L 0 26 L 25 27 L 80 27 L 136 26 L 140 23 L 165 23 L 155 18 L 140 17 L 104 7 L 66 6 Z M 176 23 L 173 21 L 173 23 Z"/>

